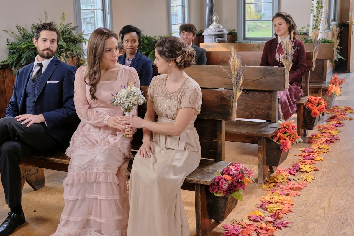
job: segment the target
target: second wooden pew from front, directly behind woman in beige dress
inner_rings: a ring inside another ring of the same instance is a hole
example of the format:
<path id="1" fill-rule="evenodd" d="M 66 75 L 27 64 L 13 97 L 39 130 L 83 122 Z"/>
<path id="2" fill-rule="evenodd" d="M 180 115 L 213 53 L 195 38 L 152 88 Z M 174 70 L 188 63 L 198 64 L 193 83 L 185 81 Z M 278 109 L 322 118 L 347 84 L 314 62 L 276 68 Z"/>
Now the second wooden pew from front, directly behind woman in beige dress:
<path id="1" fill-rule="evenodd" d="M 185 71 L 193 79 L 201 81 L 201 87 L 215 84 L 219 88 L 232 89 L 232 81 L 224 69 L 229 71 L 230 67 L 192 66 Z M 278 91 L 284 91 L 285 87 L 284 67 L 247 66 L 242 83 L 244 92 L 237 101 L 236 109 L 236 117 L 244 120 L 225 121 L 225 140 L 258 145 L 258 183 L 263 183 L 268 175 L 266 159 L 273 158 L 266 157 L 265 139 L 278 129 Z M 261 132 L 260 127 L 263 127 Z"/>

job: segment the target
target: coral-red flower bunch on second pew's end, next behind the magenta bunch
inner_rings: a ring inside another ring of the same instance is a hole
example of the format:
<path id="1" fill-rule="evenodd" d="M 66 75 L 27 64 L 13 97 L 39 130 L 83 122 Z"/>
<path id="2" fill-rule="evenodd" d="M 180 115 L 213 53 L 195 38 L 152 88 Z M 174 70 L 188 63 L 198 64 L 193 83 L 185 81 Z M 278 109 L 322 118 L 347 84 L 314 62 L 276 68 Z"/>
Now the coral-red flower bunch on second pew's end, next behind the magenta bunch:
<path id="1" fill-rule="evenodd" d="M 280 149 L 285 152 L 291 149 L 291 144 L 302 142 L 302 138 L 296 132 L 296 125 L 292 121 L 279 120 L 279 128 L 275 134 L 273 134 L 273 140 L 280 144 Z"/>

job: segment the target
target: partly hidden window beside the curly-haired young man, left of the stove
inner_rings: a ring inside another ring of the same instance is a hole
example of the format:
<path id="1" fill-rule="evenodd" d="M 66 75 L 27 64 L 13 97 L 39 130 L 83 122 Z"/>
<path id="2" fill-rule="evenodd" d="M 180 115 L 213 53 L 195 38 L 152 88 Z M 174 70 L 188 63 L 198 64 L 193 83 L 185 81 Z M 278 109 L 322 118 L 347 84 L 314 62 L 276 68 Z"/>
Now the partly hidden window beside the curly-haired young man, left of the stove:
<path id="1" fill-rule="evenodd" d="M 167 0 L 169 32 L 179 36 L 179 25 L 188 22 L 188 0 Z"/>

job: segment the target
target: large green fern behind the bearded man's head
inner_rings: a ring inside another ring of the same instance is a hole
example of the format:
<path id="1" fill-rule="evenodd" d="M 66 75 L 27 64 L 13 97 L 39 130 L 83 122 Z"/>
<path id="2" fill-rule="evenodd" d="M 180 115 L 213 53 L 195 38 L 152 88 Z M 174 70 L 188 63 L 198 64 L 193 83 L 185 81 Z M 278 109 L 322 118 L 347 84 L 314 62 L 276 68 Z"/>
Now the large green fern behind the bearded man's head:
<path id="1" fill-rule="evenodd" d="M 17 34 L 12 31 L 3 30 L 10 34 L 12 38 L 15 39 L 14 42 L 10 42 L 7 39 L 7 59 L 2 61 L 1 63 L 9 64 L 10 68 L 14 71 L 14 73 L 22 66 L 27 64 L 30 61 L 34 60 L 34 57 L 38 54 L 36 47 L 33 44 L 33 36 L 34 30 L 42 23 L 46 23 L 48 20 L 47 12 L 44 11 L 45 20 L 42 22 L 39 19 L 40 23 L 32 24 L 30 29 L 26 29 L 21 27 L 20 25 L 16 25 Z M 76 29 L 78 26 L 72 26 L 72 23 L 64 23 L 65 22 L 65 13 L 61 16 L 61 22 L 59 24 L 55 24 L 54 22 L 50 22 L 54 24 L 59 33 L 60 33 L 60 41 L 58 43 L 57 52 L 55 56 L 58 59 L 63 59 L 65 62 L 68 62 L 66 57 L 70 57 L 72 55 L 79 57 L 79 61 L 82 58 L 85 58 L 85 52 L 79 46 L 79 44 L 83 44 L 87 41 L 87 39 L 82 36 L 82 33 L 77 33 Z"/>

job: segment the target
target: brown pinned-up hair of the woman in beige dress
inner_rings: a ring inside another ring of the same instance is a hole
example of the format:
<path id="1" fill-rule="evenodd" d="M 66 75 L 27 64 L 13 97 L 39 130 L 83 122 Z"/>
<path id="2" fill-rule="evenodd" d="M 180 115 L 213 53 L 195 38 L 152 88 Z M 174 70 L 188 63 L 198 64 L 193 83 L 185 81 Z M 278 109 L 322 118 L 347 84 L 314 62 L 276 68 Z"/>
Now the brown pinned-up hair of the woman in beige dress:
<path id="1" fill-rule="evenodd" d="M 157 53 L 167 62 L 174 61 L 183 70 L 195 64 L 195 51 L 187 47 L 182 39 L 169 36 L 161 39 L 155 45 Z"/>

